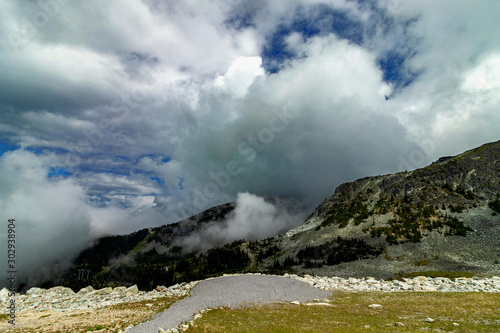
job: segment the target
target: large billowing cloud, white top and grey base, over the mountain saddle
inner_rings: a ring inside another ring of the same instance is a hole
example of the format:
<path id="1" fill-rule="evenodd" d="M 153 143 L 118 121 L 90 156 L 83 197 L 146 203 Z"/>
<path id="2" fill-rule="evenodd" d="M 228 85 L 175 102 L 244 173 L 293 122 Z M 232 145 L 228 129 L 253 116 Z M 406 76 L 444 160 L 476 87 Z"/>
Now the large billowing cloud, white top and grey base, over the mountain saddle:
<path id="1" fill-rule="evenodd" d="M 398 121 L 382 112 L 391 87 L 376 55 L 333 35 L 309 40 L 302 52 L 307 57 L 258 77 L 239 103 L 204 94 L 211 110 L 183 138 L 179 157 L 199 184 L 213 183 L 211 173 L 234 160 L 242 172 L 221 192 L 294 193 L 315 205 L 342 180 L 397 168 L 396 152 L 411 145 Z M 293 117 L 272 131 L 283 112 Z"/>

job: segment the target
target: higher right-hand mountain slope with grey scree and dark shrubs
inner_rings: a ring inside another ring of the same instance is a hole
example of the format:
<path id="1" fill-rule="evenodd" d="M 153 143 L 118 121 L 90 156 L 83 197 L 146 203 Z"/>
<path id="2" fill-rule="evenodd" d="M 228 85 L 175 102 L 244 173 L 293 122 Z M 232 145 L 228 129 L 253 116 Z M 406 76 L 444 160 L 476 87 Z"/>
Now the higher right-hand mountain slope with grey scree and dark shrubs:
<path id="1" fill-rule="evenodd" d="M 342 184 L 304 224 L 268 243 L 278 253 L 272 260 L 288 258 L 303 273 L 498 272 L 499 214 L 500 141 Z"/>

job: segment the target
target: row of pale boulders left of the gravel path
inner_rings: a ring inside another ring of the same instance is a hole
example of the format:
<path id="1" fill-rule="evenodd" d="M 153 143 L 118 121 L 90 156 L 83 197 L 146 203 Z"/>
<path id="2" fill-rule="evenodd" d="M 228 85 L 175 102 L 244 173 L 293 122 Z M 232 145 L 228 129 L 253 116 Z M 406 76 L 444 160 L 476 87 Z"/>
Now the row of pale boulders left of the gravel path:
<path id="1" fill-rule="evenodd" d="M 66 287 L 54 287 L 50 289 L 31 288 L 25 295 L 16 295 L 16 311 L 22 312 L 29 309 L 37 312 L 45 310 L 72 312 L 99 309 L 120 303 L 156 300 L 160 297 L 182 297 L 187 295 L 198 282 L 183 282 L 168 288 L 158 286 L 150 292 L 139 291 L 135 285 L 129 288 L 108 287 L 99 290 L 94 290 L 94 288 L 89 286 L 82 288 L 77 293 Z M 8 290 L 4 288 L 0 291 L 0 302 L 3 306 L 7 306 L 9 301 Z"/>

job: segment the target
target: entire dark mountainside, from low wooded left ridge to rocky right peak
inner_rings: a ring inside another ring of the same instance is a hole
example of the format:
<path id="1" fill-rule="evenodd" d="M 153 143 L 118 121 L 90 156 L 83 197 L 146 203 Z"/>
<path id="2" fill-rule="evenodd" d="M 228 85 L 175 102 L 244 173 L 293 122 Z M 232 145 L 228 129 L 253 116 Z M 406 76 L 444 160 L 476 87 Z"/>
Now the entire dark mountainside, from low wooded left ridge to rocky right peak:
<path id="1" fill-rule="evenodd" d="M 182 239 L 224 223 L 235 207 L 225 204 L 175 224 L 102 238 L 76 258 L 62 285 L 152 289 L 234 272 L 498 273 L 499 177 L 500 141 L 422 169 L 342 184 L 302 225 L 278 237 L 205 253 L 183 249 Z"/>

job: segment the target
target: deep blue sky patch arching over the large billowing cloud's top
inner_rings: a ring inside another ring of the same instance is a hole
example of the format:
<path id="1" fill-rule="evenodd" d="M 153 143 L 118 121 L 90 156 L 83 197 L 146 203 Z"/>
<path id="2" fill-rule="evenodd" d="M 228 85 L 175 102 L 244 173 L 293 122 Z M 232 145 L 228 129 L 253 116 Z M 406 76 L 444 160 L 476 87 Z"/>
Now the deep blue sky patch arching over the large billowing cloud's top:
<path id="1" fill-rule="evenodd" d="M 337 10 L 325 4 L 299 7 L 290 23 L 278 24 L 272 34 L 267 37 L 267 43 L 261 54 L 266 72 L 277 73 L 286 61 L 298 57 L 286 45 L 286 38 L 292 33 L 301 33 L 306 40 L 333 33 L 350 43 L 363 45 L 366 38 L 372 38 L 377 31 L 381 31 L 389 38 L 391 34 L 395 34 L 392 38 L 401 43 L 385 54 L 379 55 L 377 59 L 378 66 L 384 74 L 384 80 L 394 86 L 395 92 L 410 85 L 418 76 L 417 72 L 407 67 L 408 60 L 415 55 L 416 44 L 418 44 L 410 33 L 412 24 L 418 18 L 395 21 L 387 10 L 379 8 L 376 2 L 366 0 L 358 3 L 360 6 L 369 7 L 372 13 L 372 17 L 366 22 L 352 18 L 347 11 Z"/>

